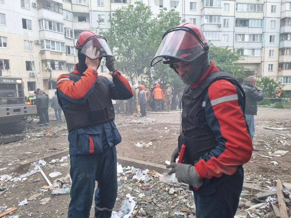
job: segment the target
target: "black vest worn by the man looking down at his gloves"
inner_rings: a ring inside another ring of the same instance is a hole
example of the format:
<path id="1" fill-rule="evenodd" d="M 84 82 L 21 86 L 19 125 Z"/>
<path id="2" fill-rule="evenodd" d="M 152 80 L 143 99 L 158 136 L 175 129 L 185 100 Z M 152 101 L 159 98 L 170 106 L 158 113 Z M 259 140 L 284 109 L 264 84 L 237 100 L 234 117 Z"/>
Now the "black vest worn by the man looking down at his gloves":
<path id="1" fill-rule="evenodd" d="M 194 165 L 200 157 L 210 152 L 218 144 L 215 135 L 206 124 L 203 100 L 209 86 L 219 79 L 226 79 L 239 88 L 243 95 L 244 111 L 246 99 L 243 88 L 229 73 L 213 72 L 202 81 L 198 88 L 189 87 L 182 96 L 182 134 L 178 137 L 179 150 L 183 143 L 186 144 L 184 163 Z"/>

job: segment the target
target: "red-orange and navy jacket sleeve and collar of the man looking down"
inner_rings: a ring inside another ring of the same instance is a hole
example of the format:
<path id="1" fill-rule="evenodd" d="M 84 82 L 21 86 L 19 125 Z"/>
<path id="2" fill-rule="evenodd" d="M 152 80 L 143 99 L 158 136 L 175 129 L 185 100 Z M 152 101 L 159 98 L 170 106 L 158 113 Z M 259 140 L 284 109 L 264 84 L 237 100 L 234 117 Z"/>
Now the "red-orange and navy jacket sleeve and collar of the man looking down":
<path id="1" fill-rule="evenodd" d="M 220 69 L 211 64 L 192 88 L 197 88 L 207 75 Z M 237 96 L 237 97 L 236 97 Z M 214 133 L 218 145 L 194 164 L 200 179 L 232 175 L 247 163 L 253 152 L 252 139 L 243 114 L 243 97 L 230 81 L 213 82 L 204 98 L 206 124 Z"/>

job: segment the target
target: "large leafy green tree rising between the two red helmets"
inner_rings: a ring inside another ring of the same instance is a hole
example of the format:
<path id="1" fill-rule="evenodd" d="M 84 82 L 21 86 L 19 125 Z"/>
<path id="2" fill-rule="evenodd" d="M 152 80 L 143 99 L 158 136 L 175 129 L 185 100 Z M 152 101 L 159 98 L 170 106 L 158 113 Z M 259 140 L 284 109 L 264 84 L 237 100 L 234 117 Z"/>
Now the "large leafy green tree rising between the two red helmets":
<path id="1" fill-rule="evenodd" d="M 155 82 L 182 86 L 182 81 L 168 65 L 158 63 L 153 68 L 150 66 L 164 32 L 181 24 L 179 12 L 164 8 L 154 17 L 149 6 L 135 2 L 117 9 L 110 15 L 109 22 L 111 27 L 103 35 L 115 54 L 116 67 L 123 69 L 131 81 L 141 77 L 147 81 L 143 83 L 149 86 Z"/>

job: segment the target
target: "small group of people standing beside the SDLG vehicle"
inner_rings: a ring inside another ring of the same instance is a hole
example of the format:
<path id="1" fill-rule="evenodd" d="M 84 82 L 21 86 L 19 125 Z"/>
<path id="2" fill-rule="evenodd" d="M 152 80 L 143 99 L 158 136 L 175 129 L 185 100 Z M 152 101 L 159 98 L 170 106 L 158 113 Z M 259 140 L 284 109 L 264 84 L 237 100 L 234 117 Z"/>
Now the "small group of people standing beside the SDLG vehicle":
<path id="1" fill-rule="evenodd" d="M 36 111 L 39 117 L 39 126 L 49 125 L 49 95 L 41 89 L 37 88 L 35 91 L 29 91 L 29 96 L 26 101 L 36 105 Z M 57 121 L 62 120 L 62 109 L 58 102 L 57 92 L 52 97 L 51 107 L 55 110 L 55 117 Z"/>

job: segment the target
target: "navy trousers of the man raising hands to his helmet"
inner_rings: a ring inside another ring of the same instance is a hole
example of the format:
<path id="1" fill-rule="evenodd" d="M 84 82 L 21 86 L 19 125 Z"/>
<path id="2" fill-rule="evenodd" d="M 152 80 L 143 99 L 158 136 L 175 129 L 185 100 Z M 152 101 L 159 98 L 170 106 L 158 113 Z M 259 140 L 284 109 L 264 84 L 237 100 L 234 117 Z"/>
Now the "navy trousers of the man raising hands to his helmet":
<path id="1" fill-rule="evenodd" d="M 117 197 L 116 147 L 102 153 L 70 156 L 72 178 L 68 218 L 88 218 L 95 191 L 94 218 L 110 218 Z"/>

